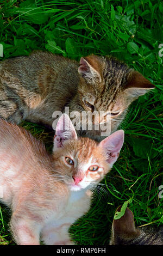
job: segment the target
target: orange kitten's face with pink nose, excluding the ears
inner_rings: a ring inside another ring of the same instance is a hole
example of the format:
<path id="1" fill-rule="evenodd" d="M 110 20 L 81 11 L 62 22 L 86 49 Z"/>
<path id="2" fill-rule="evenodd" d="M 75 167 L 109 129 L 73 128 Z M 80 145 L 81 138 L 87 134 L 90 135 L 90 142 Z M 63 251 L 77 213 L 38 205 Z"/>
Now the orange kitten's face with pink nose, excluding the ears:
<path id="1" fill-rule="evenodd" d="M 59 150 L 57 162 L 67 174 L 65 182 L 72 191 L 81 190 L 93 181 L 101 181 L 109 172 L 111 167 L 102 153 L 98 144 L 87 138 L 66 142 L 64 149 Z"/>

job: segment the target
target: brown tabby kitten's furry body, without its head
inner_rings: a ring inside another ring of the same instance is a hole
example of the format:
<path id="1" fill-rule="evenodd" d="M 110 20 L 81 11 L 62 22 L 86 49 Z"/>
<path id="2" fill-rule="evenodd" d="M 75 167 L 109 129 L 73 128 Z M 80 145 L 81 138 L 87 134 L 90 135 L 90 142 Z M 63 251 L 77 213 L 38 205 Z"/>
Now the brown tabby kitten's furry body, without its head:
<path id="1" fill-rule="evenodd" d="M 0 117 L 16 124 L 51 120 L 52 125 L 54 110 L 62 110 L 76 93 L 77 68 L 75 60 L 43 51 L 0 62 Z"/>

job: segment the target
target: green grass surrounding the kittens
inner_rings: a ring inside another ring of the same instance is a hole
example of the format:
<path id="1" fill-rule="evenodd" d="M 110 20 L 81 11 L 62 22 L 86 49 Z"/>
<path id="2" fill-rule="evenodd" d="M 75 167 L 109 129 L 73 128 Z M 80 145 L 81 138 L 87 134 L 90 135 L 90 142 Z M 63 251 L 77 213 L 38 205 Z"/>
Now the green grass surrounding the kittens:
<path id="1" fill-rule="evenodd" d="M 162 204 L 162 1 L 0 1 L 0 43 L 4 57 L 47 50 L 79 60 L 90 53 L 116 56 L 146 76 L 156 89 L 135 101 L 121 125 L 125 143 L 104 191 L 70 229 L 79 245 L 107 245 L 116 208 L 133 198 L 135 223 L 160 225 Z M 0 58 L 0 59 L 3 59 Z M 36 124 L 22 125 L 52 148 L 52 134 Z M 14 244 L 9 211 L 0 210 L 0 244 Z"/>

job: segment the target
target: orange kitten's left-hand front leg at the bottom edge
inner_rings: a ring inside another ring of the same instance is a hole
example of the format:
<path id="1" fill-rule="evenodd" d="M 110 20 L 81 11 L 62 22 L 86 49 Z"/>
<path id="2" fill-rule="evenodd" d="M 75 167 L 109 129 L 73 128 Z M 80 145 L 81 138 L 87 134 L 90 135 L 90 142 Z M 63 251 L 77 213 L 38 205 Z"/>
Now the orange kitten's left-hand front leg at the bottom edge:
<path id="1" fill-rule="evenodd" d="M 40 225 L 32 220 L 12 216 L 10 221 L 12 235 L 17 245 L 40 245 Z"/>

